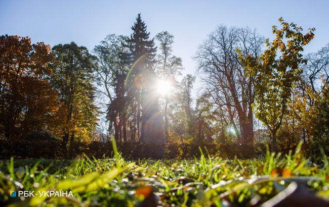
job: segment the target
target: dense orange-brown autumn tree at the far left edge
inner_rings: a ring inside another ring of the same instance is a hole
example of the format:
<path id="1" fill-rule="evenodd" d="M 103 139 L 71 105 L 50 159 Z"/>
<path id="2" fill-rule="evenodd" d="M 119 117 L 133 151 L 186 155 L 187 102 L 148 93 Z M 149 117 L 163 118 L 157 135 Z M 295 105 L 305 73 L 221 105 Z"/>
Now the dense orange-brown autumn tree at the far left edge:
<path id="1" fill-rule="evenodd" d="M 7 141 L 53 129 L 58 106 L 49 84 L 52 61 L 43 42 L 0 36 L 0 136 Z"/>

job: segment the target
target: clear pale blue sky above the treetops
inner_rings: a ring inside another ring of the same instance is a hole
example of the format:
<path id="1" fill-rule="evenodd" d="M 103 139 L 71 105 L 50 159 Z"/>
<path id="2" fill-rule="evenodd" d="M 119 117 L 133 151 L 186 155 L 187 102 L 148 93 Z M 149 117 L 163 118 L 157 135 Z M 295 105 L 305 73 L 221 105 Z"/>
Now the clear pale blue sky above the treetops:
<path id="1" fill-rule="evenodd" d="M 0 35 L 29 36 L 51 46 L 75 41 L 92 51 L 107 34 L 130 35 L 141 13 L 151 37 L 161 31 L 175 36 L 174 55 L 181 57 L 183 74 L 195 74 L 192 59 L 200 43 L 217 25 L 248 26 L 270 39 L 278 18 L 306 31 L 315 39 L 305 54 L 329 42 L 329 1 L 15 1 L 0 0 Z M 196 84 L 198 85 L 198 83 Z M 194 88 L 194 90 L 196 90 Z"/>

